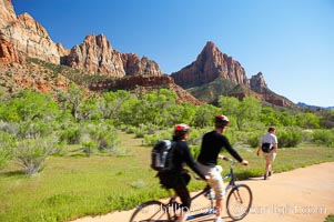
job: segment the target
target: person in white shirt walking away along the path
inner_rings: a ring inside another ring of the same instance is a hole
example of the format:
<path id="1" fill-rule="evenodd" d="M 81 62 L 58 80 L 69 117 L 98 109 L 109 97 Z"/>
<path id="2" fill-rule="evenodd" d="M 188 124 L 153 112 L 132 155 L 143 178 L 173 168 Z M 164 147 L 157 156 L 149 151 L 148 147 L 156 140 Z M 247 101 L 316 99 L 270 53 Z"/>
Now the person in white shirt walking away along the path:
<path id="1" fill-rule="evenodd" d="M 262 137 L 261 144 L 256 151 L 256 154 L 260 155 L 260 152 L 263 152 L 265 159 L 265 172 L 263 179 L 266 180 L 272 175 L 272 163 L 274 162 L 277 154 L 277 138 L 275 135 L 276 129 L 269 128 L 267 133 Z"/>

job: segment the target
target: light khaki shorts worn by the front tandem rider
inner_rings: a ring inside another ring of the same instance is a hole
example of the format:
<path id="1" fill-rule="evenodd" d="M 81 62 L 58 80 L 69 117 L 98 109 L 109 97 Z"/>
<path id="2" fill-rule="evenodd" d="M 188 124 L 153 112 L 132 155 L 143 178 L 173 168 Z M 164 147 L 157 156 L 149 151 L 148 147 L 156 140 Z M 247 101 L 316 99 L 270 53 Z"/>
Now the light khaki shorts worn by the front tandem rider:
<path id="1" fill-rule="evenodd" d="M 199 167 L 205 175 L 210 176 L 208 183 L 213 189 L 215 199 L 222 200 L 225 196 L 225 184 L 222 178 L 222 167 L 208 167 L 203 165 L 202 163 L 199 163 Z"/>

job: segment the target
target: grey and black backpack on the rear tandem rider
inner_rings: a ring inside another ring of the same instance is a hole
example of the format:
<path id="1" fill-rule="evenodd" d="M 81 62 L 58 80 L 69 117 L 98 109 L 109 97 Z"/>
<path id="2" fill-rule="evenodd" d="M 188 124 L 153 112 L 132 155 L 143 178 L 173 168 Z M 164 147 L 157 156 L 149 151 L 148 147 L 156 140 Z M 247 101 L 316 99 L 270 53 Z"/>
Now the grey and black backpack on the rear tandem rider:
<path id="1" fill-rule="evenodd" d="M 152 149 L 151 168 L 159 172 L 170 171 L 173 168 L 173 148 L 171 140 L 161 140 Z"/>

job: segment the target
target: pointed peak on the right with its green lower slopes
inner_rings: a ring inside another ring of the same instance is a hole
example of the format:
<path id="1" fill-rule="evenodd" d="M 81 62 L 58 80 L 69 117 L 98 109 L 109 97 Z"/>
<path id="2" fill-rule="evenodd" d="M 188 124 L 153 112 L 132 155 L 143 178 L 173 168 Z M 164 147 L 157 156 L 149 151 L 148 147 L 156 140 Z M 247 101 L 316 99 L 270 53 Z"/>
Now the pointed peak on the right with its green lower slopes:
<path id="1" fill-rule="evenodd" d="M 172 73 L 171 77 L 176 84 L 209 103 L 215 103 L 220 95 L 232 95 L 239 99 L 247 95 L 280 107 L 294 105 L 286 98 L 272 92 L 261 72 L 247 79 L 240 62 L 222 53 L 210 41 L 194 62 Z"/>

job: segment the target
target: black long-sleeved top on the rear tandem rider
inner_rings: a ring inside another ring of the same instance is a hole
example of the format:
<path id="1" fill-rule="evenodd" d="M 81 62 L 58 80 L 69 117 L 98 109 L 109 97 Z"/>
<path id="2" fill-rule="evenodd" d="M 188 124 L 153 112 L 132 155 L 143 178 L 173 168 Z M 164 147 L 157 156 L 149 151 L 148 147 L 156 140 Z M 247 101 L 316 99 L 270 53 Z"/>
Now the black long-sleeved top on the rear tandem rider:
<path id="1" fill-rule="evenodd" d="M 186 163 L 198 175 L 205 180 L 205 175 L 199 169 L 196 162 L 190 153 L 188 144 L 182 140 L 176 140 L 173 150 L 173 169 L 178 173 L 182 172 L 184 163 Z"/>

